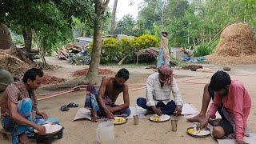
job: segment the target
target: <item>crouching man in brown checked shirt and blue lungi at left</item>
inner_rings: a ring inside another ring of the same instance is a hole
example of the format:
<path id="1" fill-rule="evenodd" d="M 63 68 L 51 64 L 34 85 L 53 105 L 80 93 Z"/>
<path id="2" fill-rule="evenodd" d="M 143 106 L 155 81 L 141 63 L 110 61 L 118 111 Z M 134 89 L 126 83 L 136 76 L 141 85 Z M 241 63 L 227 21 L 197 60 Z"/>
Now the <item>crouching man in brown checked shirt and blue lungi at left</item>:
<path id="1" fill-rule="evenodd" d="M 47 115 L 38 111 L 38 100 L 34 94 L 34 90 L 41 85 L 42 76 L 40 69 L 27 70 L 22 82 L 13 82 L 7 86 L 0 99 L 2 127 L 12 132 L 14 144 L 28 142 L 30 127 L 39 133 L 46 133 L 45 126 L 40 125 L 46 122 Z"/>

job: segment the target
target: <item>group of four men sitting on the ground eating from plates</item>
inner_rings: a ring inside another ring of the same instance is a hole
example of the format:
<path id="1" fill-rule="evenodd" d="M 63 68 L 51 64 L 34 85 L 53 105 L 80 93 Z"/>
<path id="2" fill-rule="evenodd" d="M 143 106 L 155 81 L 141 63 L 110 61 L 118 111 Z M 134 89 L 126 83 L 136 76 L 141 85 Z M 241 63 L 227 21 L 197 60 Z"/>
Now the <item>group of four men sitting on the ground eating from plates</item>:
<path id="1" fill-rule="evenodd" d="M 178 84 L 173 77 L 173 70 L 162 65 L 158 73 L 151 74 L 146 80 L 146 98 L 138 98 L 137 104 L 146 109 L 146 114 L 176 114 L 182 113 L 182 96 Z M 38 101 L 34 94 L 42 82 L 43 72 L 39 69 L 26 71 L 22 81 L 13 82 L 1 96 L 2 126 L 14 134 L 13 143 L 26 143 L 27 130 L 31 127 L 40 133 L 46 133 L 42 126 L 46 120 L 58 122 L 48 118 L 46 113 L 38 110 Z M 94 86 L 87 86 L 85 107 L 91 110 L 93 122 L 98 118 L 114 119 L 114 115 L 127 117 L 130 115 L 130 98 L 128 85 L 129 71 L 121 69 L 115 77 L 104 77 L 97 90 Z M 119 94 L 123 94 L 123 104 L 116 105 Z M 174 98 L 170 96 L 173 95 Z M 214 101 L 207 111 L 210 98 Z M 173 100 L 174 99 L 174 100 Z M 210 122 L 214 125 L 215 138 L 224 138 L 235 134 L 238 143 L 244 143 L 246 122 L 250 114 L 251 99 L 242 82 L 230 80 L 229 74 L 216 72 L 206 84 L 203 91 L 202 110 L 200 114 L 188 121 L 200 122 L 198 128 L 204 128 Z M 215 119 L 218 111 L 222 118 Z M 42 122 L 42 119 L 45 121 Z"/>

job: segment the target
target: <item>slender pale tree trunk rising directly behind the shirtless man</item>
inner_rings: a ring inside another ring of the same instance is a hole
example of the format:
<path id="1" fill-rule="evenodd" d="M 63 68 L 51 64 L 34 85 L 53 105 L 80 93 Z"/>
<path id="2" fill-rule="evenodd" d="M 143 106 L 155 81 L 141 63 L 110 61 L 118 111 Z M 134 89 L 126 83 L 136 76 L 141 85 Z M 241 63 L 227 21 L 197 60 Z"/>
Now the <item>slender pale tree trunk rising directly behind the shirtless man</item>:
<path id="1" fill-rule="evenodd" d="M 95 13 L 97 18 L 94 19 L 94 43 L 89 72 L 85 78 L 85 81 L 87 80 L 90 84 L 94 84 L 98 80 L 96 78 L 98 78 L 98 66 L 100 63 L 100 56 L 102 51 L 102 17 L 104 10 L 106 10 L 106 6 L 109 2 L 109 0 L 106 0 L 104 4 L 102 4 L 101 0 L 95 2 Z"/>

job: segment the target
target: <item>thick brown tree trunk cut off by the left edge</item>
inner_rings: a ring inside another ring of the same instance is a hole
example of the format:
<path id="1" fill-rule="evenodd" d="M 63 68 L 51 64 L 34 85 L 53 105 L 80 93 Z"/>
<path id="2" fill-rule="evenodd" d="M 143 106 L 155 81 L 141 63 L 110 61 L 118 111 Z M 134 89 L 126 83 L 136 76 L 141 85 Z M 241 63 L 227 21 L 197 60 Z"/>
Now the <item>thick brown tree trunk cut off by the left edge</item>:
<path id="1" fill-rule="evenodd" d="M 6 50 L 12 46 L 10 31 L 4 23 L 0 23 L 0 49 Z"/>

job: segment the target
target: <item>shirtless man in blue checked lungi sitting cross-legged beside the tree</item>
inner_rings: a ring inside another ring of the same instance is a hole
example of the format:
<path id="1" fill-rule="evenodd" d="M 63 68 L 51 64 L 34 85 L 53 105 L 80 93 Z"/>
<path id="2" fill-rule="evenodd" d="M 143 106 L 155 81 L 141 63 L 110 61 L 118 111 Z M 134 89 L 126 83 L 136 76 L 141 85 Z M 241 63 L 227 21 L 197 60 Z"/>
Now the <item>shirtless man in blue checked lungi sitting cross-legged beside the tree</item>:
<path id="1" fill-rule="evenodd" d="M 90 108 L 92 122 L 97 122 L 98 117 L 114 119 L 114 115 L 127 117 L 130 115 L 130 100 L 126 81 L 129 78 L 129 71 L 121 69 L 115 77 L 104 77 L 99 91 L 94 86 L 87 86 L 85 107 Z M 122 105 L 115 105 L 118 95 L 123 93 Z"/>

